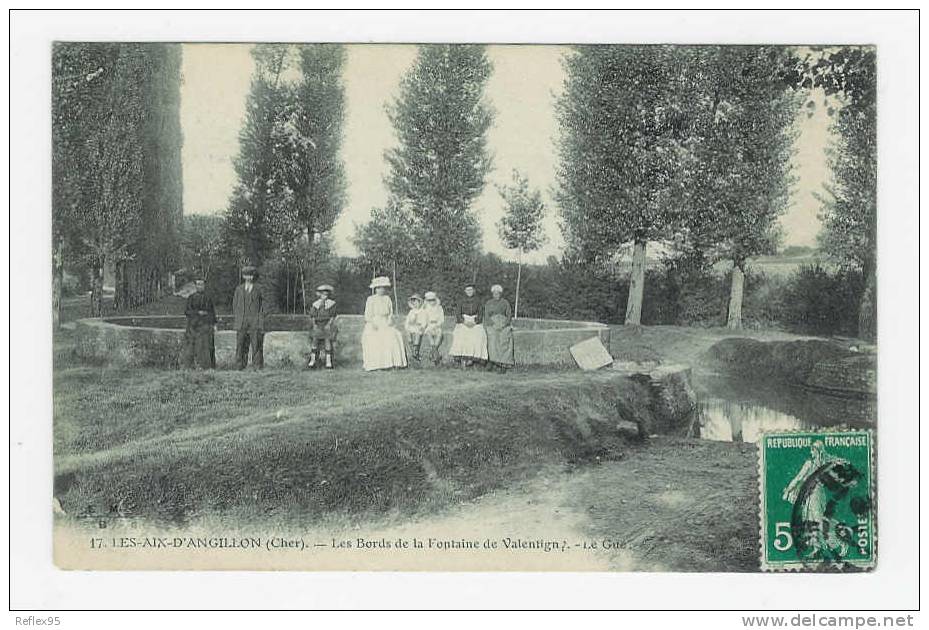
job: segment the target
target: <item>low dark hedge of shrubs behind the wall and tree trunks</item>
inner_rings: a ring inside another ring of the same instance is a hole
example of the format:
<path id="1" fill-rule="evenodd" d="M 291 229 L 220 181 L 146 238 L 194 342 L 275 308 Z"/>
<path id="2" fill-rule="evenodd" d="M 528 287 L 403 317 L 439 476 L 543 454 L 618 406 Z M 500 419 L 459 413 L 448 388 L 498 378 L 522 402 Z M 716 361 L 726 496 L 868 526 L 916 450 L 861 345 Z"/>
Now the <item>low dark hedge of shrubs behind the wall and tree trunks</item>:
<path id="1" fill-rule="evenodd" d="M 231 249 L 221 248 L 212 267 L 208 289 L 218 304 L 229 304 L 238 283 L 237 263 Z M 368 283 L 374 271 L 360 258 L 333 256 L 307 273 L 307 304 L 323 282 L 336 288 L 343 313 L 362 313 L 370 295 Z M 383 273 L 383 271 L 379 271 Z M 448 313 L 463 296 L 462 287 L 473 281 L 478 295 L 489 298 L 489 287 L 501 284 L 513 302 L 516 265 L 494 254 L 481 256 L 470 269 L 455 273 L 426 269 L 400 270 L 397 274 L 398 312 L 406 312 L 407 297 L 436 291 Z M 302 310 L 300 279 L 294 269 L 266 262 L 262 284 L 284 310 Z M 285 287 L 290 282 L 289 297 Z M 730 276 L 689 261 L 664 261 L 645 272 L 642 323 L 677 326 L 724 326 L 729 305 Z M 294 287 L 297 292 L 294 293 Z M 765 274 L 751 267 L 745 275 L 742 321 L 746 328 L 785 328 L 798 333 L 853 335 L 857 329 L 858 304 L 864 289 L 861 274 L 830 270 L 821 265 L 800 267 L 791 276 Z M 391 293 L 392 294 L 392 293 Z M 519 314 L 525 318 L 576 319 L 622 324 L 625 319 L 629 277 L 625 271 L 549 258 L 544 265 L 524 265 L 520 285 Z"/>

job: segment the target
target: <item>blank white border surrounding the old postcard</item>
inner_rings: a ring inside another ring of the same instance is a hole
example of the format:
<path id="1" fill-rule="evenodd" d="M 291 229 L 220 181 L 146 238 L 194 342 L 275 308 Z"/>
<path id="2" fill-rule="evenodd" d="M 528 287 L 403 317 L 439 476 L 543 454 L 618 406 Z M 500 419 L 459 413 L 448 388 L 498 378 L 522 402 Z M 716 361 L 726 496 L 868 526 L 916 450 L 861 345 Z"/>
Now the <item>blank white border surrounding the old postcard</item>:
<path id="1" fill-rule="evenodd" d="M 9 293 L 0 296 L 12 296 L 15 307 L 9 346 L 14 607 L 853 610 L 917 605 L 915 14 L 16 12 L 11 19 L 11 285 Z M 193 572 L 126 576 L 55 569 L 47 501 L 52 471 L 47 270 L 53 39 L 876 44 L 882 537 L 878 569 L 867 575 L 835 576 L 214 573 L 208 578 Z M 148 623 L 144 618 L 139 622 L 143 627 Z"/>

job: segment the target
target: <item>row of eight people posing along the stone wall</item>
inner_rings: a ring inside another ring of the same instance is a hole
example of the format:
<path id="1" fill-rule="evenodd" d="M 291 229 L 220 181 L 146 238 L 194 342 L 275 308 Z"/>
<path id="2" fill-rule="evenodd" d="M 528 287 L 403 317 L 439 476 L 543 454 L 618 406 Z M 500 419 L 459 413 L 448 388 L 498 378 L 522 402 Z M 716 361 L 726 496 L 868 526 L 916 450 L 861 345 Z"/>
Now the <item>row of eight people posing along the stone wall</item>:
<path id="1" fill-rule="evenodd" d="M 255 284 L 254 267 L 242 270 L 242 283 L 236 287 L 232 312 L 236 331 L 236 366 L 244 369 L 249 362 L 264 367 L 264 298 Z M 186 342 L 183 363 L 190 367 L 215 368 L 213 333 L 216 309 L 204 292 L 204 281 L 196 280 L 196 291 L 187 299 Z M 390 298 L 390 278 L 380 276 L 371 281 L 372 295 L 365 302 L 364 329 L 361 334 L 362 362 L 366 371 L 405 368 L 408 365 L 404 335 L 394 326 L 394 305 Z M 495 284 L 492 297 L 482 302 L 473 284 L 464 287 L 464 296 L 455 312 L 455 327 L 449 355 L 462 368 L 477 365 L 505 372 L 515 365 L 513 312 L 503 297 L 503 288 Z M 337 306 L 332 285 L 316 288 L 316 300 L 310 306 L 311 350 L 308 368 L 333 369 L 333 344 L 338 335 Z M 416 362 L 442 362 L 445 310 L 434 291 L 414 293 L 407 301 L 409 312 L 403 328 L 410 355 Z M 425 347 L 424 347 L 425 346 Z M 251 353 L 249 353 L 251 350 Z"/>

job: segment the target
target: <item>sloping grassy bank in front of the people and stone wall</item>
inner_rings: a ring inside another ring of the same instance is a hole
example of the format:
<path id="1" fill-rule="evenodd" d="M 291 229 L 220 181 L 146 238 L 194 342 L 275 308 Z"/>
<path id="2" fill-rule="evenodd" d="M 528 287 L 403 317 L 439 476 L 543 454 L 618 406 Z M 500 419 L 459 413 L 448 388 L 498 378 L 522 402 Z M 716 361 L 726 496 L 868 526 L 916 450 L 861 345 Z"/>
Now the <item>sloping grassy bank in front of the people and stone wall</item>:
<path id="1" fill-rule="evenodd" d="M 415 513 L 544 464 L 619 457 L 621 414 L 648 413 L 647 392 L 626 379 L 558 371 L 73 365 L 55 388 L 64 510 L 175 522 L 229 510 Z"/>

